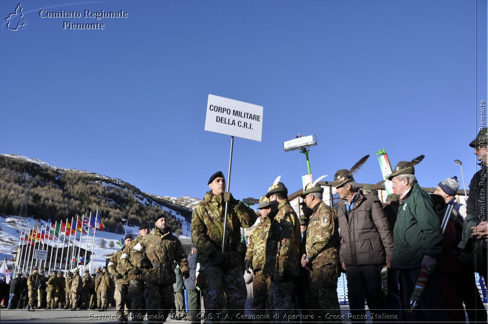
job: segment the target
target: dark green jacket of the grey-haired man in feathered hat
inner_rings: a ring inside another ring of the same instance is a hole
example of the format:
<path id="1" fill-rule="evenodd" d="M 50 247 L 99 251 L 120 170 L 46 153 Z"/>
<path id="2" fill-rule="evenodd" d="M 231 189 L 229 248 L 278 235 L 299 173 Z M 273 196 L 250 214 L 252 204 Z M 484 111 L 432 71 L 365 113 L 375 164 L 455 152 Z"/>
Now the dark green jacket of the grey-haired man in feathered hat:
<path id="1" fill-rule="evenodd" d="M 439 217 L 427 191 L 415 183 L 400 203 L 394 230 L 393 267 L 420 267 L 424 255 L 442 257 Z"/>

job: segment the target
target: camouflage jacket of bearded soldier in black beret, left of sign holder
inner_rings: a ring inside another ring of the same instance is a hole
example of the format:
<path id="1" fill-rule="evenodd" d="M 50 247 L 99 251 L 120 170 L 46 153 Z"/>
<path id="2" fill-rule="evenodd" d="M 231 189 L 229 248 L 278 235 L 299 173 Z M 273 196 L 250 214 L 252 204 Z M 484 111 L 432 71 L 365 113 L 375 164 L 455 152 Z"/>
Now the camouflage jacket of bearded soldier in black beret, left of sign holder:
<path id="1" fill-rule="evenodd" d="M 174 284 L 176 276 L 173 263 L 180 264 L 182 272 L 188 271 L 188 261 L 183 251 L 182 243 L 171 233 L 170 229 L 161 231 L 154 228 L 142 240 L 134 245 L 131 251 L 132 259 L 141 268 L 142 259 L 152 263 L 152 268 L 142 274 L 142 280 L 154 284 Z"/>

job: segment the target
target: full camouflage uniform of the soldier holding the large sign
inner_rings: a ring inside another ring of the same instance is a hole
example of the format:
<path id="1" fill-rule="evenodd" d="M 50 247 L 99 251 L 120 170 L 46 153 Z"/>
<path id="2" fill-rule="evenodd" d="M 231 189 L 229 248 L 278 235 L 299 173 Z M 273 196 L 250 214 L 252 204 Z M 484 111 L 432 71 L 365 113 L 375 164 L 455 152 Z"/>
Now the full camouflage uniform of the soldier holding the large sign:
<path id="1" fill-rule="evenodd" d="M 224 210 L 224 195 L 214 195 L 209 191 L 203 197 L 203 202 L 195 206 L 191 217 L 191 238 L 198 249 L 198 285 L 203 296 L 206 323 L 219 322 L 218 313 L 224 307 L 229 317 L 235 318 L 238 313 L 242 313 L 247 296 L 243 276 L 245 246 L 241 243 L 241 227 L 253 225 L 256 213 L 240 201 L 235 206 L 229 203 L 224 263 L 218 265 L 213 255 L 222 251 Z"/>

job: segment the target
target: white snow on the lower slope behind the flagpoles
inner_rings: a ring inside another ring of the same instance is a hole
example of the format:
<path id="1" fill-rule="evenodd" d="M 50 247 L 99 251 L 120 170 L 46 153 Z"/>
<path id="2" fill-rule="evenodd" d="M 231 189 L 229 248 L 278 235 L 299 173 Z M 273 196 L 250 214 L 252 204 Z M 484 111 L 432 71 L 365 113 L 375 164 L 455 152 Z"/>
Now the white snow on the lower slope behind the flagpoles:
<path id="1" fill-rule="evenodd" d="M 183 227 L 183 235 L 182 237 L 189 237 L 190 236 L 190 227 L 187 222 L 186 227 Z M 182 221 L 183 224 L 183 221 Z M 46 222 L 38 222 L 32 218 L 27 218 L 25 221 L 23 218 L 19 216 L 0 216 L 0 229 L 1 229 L 1 237 L 0 237 L 0 257 L 4 259 L 7 257 L 7 261 L 9 261 L 13 255 L 11 254 L 15 247 L 19 245 L 20 233 L 22 229 L 26 229 L 27 231 L 32 228 L 33 226 L 40 226 L 39 231 L 41 231 L 41 226 L 45 226 Z M 49 226 L 49 223 L 47 223 Z M 185 225 L 185 224 L 183 224 Z M 154 224 L 151 224 L 151 227 L 154 227 Z M 125 229 L 125 224 L 124 224 Z M 127 234 L 131 233 L 134 238 L 139 233 L 139 226 L 127 226 Z M 86 241 L 88 237 L 88 250 L 92 251 L 93 248 L 93 255 L 92 255 L 92 272 L 95 270 L 97 266 L 105 266 L 105 258 L 107 254 L 114 253 L 120 249 L 118 239 L 123 240 L 123 234 L 115 234 L 107 231 L 100 231 L 97 230 L 95 234 L 95 243 L 93 244 L 93 232 L 90 230 L 89 235 L 83 234 L 81 236 L 81 248 L 86 247 Z M 69 237 L 69 236 L 68 236 Z M 66 237 L 66 239 L 68 239 Z M 63 236 L 61 235 L 61 239 Z M 71 242 L 73 242 L 74 235 L 71 236 Z M 77 232 L 77 246 L 80 238 L 80 232 Z M 105 240 L 105 248 L 100 247 L 101 241 Z M 51 242 L 51 241 L 50 241 Z M 115 245 L 113 248 L 108 247 L 110 242 L 113 242 Z M 57 246 L 57 241 L 54 242 L 55 246 Z M 42 244 L 41 244 L 42 246 Z M 60 249 L 62 247 L 62 242 L 60 240 Z M 67 247 L 67 243 L 65 244 Z M 13 268 L 13 263 L 8 263 L 9 267 Z"/>

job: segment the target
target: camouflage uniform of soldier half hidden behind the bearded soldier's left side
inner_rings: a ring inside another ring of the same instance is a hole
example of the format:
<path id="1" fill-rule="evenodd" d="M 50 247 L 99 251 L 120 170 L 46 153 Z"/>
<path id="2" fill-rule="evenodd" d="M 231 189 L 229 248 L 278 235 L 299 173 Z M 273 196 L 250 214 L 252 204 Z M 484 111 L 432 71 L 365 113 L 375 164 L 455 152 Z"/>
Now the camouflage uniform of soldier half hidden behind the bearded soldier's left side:
<path id="1" fill-rule="evenodd" d="M 141 242 L 141 240 L 142 235 L 138 235 L 135 240 L 127 243 L 120 259 L 120 262 L 125 267 L 125 270 L 128 271 L 129 275 L 129 294 L 132 301 L 133 323 L 142 323 L 142 317 L 145 313 L 143 310 L 146 308 L 146 303 L 143 298 L 144 281 L 142 281 L 142 269 L 134 265 L 136 262 L 132 258 L 132 248 Z"/>

